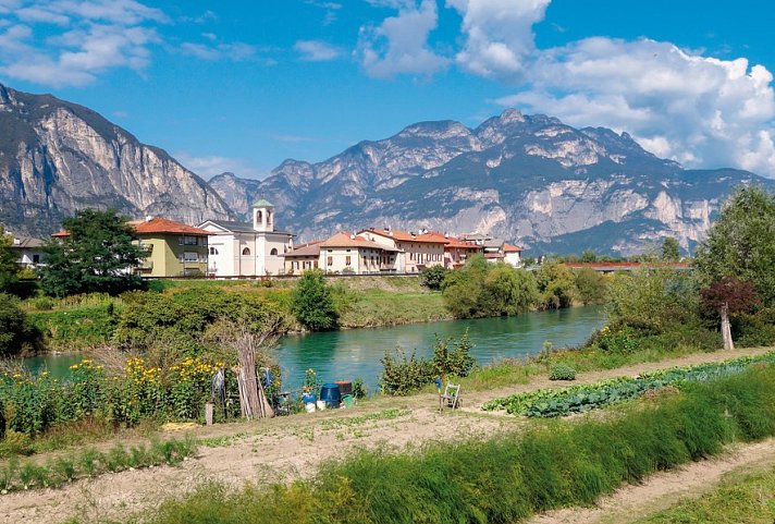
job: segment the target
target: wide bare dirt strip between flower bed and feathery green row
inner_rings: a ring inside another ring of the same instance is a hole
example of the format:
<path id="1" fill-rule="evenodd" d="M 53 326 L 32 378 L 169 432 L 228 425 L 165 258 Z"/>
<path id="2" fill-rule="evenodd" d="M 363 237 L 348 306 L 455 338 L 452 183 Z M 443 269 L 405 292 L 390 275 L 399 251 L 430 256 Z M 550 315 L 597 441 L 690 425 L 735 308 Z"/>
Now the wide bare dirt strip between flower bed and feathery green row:
<path id="1" fill-rule="evenodd" d="M 703 353 L 660 363 L 586 373 L 578 376 L 576 383 L 766 351 L 770 350 Z M 322 462 L 347 456 L 360 448 L 413 449 L 443 438 L 482 438 L 514 430 L 529 423 L 510 416 L 488 414 L 479 406 L 490 399 L 516 391 L 562 386 L 536 378 L 529 385 L 501 390 L 476 393 L 463 391 L 464 410 L 454 413 L 439 413 L 435 395 L 419 394 L 405 399 L 381 398 L 349 411 L 197 428 L 192 431 L 194 437 L 209 438 L 218 446 L 201 447 L 196 459 L 184 462 L 180 467 L 107 474 L 94 480 L 76 482 L 62 489 L 0 496 L 0 523 L 50 524 L 73 516 L 91 522 L 118 519 L 190 490 L 204 480 L 233 485 L 242 485 L 247 480 L 282 482 L 310 475 Z M 106 442 L 100 447 L 113 443 Z"/>

